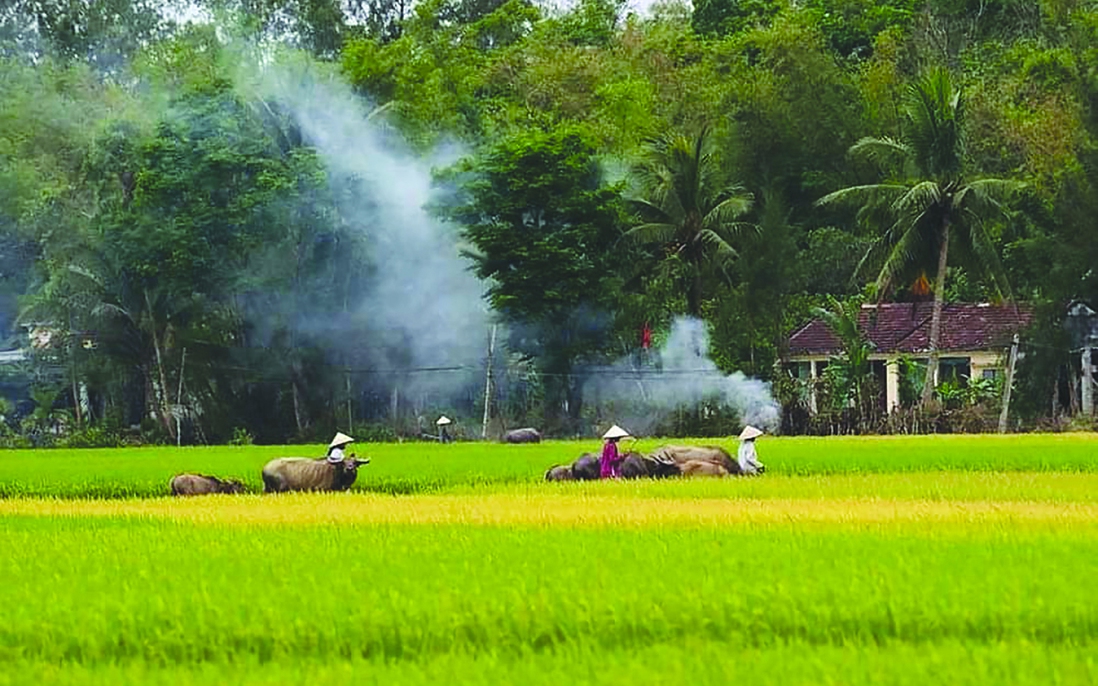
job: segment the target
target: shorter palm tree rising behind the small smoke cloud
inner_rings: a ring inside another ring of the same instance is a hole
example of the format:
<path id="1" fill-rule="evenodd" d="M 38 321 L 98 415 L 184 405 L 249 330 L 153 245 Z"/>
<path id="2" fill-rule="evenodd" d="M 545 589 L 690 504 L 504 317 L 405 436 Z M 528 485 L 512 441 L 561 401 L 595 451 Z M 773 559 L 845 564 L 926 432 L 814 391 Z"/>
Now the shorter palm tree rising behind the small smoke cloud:
<path id="1" fill-rule="evenodd" d="M 726 268 L 737 257 L 732 240 L 750 226 L 737 222 L 751 209 L 751 193 L 726 183 L 707 128 L 696 136 L 669 134 L 649 142 L 635 176 L 645 198 L 631 203 L 642 223 L 626 235 L 663 248 L 686 269 L 686 311 L 701 317 L 703 269 Z"/>

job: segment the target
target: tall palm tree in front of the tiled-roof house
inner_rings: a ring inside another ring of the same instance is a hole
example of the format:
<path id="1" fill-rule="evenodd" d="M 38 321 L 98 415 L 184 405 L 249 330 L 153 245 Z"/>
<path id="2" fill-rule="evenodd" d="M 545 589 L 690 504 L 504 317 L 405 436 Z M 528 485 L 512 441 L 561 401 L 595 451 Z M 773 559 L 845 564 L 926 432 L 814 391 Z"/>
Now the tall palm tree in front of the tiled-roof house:
<path id="1" fill-rule="evenodd" d="M 931 69 L 911 85 L 904 105 L 906 126 L 900 140 L 862 138 L 850 148 L 852 155 L 890 171 L 889 179 L 844 188 L 825 195 L 817 204 L 856 204 L 860 220 L 886 224 L 859 265 L 861 269 L 871 262 L 881 263 L 876 281 L 878 299 L 906 275 L 937 267 L 927 363 L 927 379 L 931 380 L 938 372 L 950 248 L 976 272 L 982 272 L 1000 296 L 1009 295 L 984 222 L 1004 214 L 1004 202 L 1023 184 L 967 177 L 964 100 L 944 68 Z M 933 391 L 933 383 L 925 384 L 922 404 L 930 401 Z"/>

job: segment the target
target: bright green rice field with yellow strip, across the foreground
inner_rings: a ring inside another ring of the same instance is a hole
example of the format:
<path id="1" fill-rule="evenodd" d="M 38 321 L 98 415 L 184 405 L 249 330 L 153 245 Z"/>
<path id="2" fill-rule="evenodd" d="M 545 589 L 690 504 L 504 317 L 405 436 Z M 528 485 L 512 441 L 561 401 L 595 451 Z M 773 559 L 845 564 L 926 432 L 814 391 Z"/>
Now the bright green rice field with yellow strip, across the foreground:
<path id="1" fill-rule="evenodd" d="M 204 498 L 168 479 L 318 449 L 0 452 L 0 685 L 1098 683 L 1093 435 L 541 480 L 597 447 L 362 445 L 351 492 Z"/>

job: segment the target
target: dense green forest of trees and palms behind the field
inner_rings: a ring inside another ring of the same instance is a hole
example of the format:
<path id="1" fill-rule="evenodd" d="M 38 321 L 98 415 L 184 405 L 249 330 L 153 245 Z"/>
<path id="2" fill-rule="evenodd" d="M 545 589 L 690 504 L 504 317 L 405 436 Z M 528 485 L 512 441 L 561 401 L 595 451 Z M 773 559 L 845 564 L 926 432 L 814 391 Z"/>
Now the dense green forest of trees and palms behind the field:
<path id="1" fill-rule="evenodd" d="M 584 432 L 584 373 L 682 314 L 794 406 L 794 327 L 928 283 L 1037 306 L 1012 409 L 1057 421 L 1079 404 L 1067 305 L 1098 302 L 1096 38 L 1088 0 L 16 0 L 0 349 L 38 345 L 0 362 L 0 441 L 479 419 L 483 391 L 408 400 L 359 369 L 371 331 L 348 303 L 386 227 L 349 212 L 294 103 L 255 88 L 303 59 L 288 46 L 370 103 L 385 145 L 461 151 L 434 210 L 508 331 L 504 421 Z M 862 403 L 833 375 L 836 407 Z"/>

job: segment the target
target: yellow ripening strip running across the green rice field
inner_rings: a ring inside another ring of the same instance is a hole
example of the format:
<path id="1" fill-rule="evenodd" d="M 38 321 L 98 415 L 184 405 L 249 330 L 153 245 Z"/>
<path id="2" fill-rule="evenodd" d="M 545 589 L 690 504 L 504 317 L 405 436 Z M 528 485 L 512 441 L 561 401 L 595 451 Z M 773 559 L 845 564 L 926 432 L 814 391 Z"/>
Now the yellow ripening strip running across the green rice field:
<path id="1" fill-rule="evenodd" d="M 1098 504 L 881 498 L 672 499 L 593 494 L 288 494 L 145 501 L 0 501 L 0 516 L 134 517 L 199 525 L 733 526 L 1098 525 Z"/>

